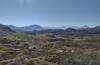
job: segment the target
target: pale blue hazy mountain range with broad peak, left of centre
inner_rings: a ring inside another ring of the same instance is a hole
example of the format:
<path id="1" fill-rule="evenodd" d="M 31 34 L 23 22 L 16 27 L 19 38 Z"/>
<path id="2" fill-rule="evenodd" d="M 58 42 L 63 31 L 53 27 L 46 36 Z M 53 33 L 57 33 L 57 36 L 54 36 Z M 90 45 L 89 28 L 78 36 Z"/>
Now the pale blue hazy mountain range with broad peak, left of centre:
<path id="1" fill-rule="evenodd" d="M 25 27 L 16 27 L 13 25 L 8 25 L 9 28 L 16 32 L 32 32 L 32 31 L 41 31 L 41 30 L 47 30 L 47 29 L 66 29 L 65 26 L 62 27 L 43 27 L 40 25 L 30 25 Z"/>

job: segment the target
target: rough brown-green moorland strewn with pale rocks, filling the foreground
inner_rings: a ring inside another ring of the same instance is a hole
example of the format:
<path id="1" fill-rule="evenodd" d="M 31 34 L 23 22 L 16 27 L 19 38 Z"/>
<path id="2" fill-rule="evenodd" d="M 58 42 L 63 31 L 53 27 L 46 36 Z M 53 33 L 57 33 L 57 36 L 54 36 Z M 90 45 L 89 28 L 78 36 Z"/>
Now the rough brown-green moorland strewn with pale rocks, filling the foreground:
<path id="1" fill-rule="evenodd" d="M 0 65 L 100 65 L 100 35 L 13 33 L 0 37 Z"/>

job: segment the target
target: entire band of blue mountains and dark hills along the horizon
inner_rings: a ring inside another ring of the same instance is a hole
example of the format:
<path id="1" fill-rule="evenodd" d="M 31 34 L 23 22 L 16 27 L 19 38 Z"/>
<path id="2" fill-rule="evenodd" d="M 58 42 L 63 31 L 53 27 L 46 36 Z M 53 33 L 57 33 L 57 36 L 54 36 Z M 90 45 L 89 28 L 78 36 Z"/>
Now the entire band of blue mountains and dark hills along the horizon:
<path id="1" fill-rule="evenodd" d="M 93 34 L 100 34 L 100 26 L 96 27 L 43 27 L 40 25 L 30 25 L 25 27 L 16 27 L 12 25 L 2 25 L 0 24 L 0 31 L 5 32 L 66 32 L 66 33 L 73 33 L 73 34 L 84 34 L 84 33 L 93 33 Z"/>

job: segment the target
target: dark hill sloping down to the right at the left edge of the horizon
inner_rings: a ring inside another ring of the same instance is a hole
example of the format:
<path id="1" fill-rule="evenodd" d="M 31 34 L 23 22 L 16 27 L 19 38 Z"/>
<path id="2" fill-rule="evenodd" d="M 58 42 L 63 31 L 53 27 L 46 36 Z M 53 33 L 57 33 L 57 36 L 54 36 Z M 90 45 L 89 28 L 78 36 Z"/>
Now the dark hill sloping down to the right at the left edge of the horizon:
<path id="1" fill-rule="evenodd" d="M 6 35 L 12 32 L 14 31 L 10 29 L 8 26 L 0 24 L 0 35 Z"/>

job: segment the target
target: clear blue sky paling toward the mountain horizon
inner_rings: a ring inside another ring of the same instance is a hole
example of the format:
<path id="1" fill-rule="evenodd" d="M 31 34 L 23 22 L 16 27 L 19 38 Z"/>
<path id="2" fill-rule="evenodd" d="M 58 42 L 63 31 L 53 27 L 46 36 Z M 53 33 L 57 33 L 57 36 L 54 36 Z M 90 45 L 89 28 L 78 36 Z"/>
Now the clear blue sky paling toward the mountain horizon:
<path id="1" fill-rule="evenodd" d="M 98 26 L 100 0 L 0 0 L 0 24 Z"/>

